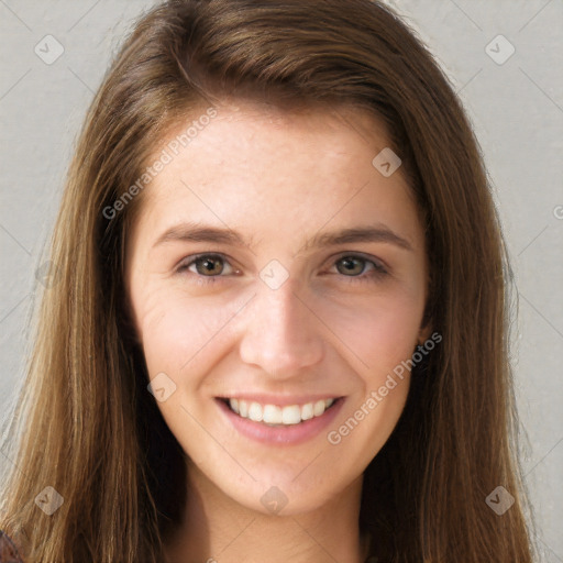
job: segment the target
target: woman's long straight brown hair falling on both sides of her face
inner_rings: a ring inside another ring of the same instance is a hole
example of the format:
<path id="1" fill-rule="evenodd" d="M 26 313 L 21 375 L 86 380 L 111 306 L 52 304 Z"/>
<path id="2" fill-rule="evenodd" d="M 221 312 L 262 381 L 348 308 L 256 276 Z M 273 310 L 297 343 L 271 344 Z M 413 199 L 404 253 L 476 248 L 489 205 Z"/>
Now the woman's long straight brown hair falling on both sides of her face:
<path id="1" fill-rule="evenodd" d="M 442 342 L 413 369 L 402 416 L 364 474 L 372 555 L 531 562 L 508 360 L 511 272 L 483 159 L 432 56 L 371 0 L 170 0 L 140 19 L 69 168 L 52 283 L 2 448 L 12 463 L 0 528 L 29 562 L 164 560 L 185 459 L 146 390 L 124 305 L 124 240 L 142 194 L 115 202 L 180 117 L 223 96 L 383 118 L 426 218 L 426 318 Z M 63 497 L 52 516 L 35 501 L 47 486 Z M 499 486 L 515 499 L 503 515 L 486 501 Z"/>

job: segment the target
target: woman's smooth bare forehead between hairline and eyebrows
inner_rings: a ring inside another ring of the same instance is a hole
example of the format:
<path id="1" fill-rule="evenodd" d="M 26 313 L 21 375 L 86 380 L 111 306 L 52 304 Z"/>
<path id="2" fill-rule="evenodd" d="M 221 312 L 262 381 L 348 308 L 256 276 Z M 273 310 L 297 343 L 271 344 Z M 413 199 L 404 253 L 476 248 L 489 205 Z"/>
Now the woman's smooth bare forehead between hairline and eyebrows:
<path id="1" fill-rule="evenodd" d="M 140 213 L 155 234 L 186 219 L 252 227 L 265 236 L 282 229 L 292 235 L 306 223 L 366 223 L 375 211 L 412 221 L 417 210 L 400 167 L 384 177 L 372 164 L 389 141 L 383 121 L 366 110 L 324 104 L 288 112 L 231 101 L 199 119 L 206 110 L 191 111 L 156 146 L 153 161 L 164 152 L 170 159 L 144 190 Z"/>

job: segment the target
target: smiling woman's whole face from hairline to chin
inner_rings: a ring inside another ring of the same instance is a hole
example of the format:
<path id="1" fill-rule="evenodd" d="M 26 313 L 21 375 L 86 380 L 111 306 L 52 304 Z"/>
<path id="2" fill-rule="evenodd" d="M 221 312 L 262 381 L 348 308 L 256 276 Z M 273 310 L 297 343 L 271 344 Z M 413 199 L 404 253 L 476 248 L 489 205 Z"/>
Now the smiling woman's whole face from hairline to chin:
<path id="1" fill-rule="evenodd" d="M 192 120 L 156 147 L 173 158 L 128 240 L 157 405 L 200 481 L 261 512 L 314 509 L 402 411 L 409 373 L 389 374 L 426 334 L 417 206 L 400 167 L 372 164 L 388 142 L 361 110 L 225 102 L 178 150 Z"/>

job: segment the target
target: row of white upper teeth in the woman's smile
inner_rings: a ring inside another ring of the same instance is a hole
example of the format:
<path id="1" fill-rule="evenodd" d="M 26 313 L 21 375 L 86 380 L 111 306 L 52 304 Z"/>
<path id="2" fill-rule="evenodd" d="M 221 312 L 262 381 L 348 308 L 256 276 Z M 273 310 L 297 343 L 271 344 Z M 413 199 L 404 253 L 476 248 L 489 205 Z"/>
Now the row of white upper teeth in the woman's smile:
<path id="1" fill-rule="evenodd" d="M 271 426 L 298 424 L 303 420 L 320 417 L 334 402 L 334 399 L 321 399 L 306 405 L 289 405 L 278 407 L 277 405 L 261 405 L 260 402 L 247 402 L 243 399 L 229 399 L 231 410 L 242 418 L 249 418 L 254 422 L 265 422 Z"/>

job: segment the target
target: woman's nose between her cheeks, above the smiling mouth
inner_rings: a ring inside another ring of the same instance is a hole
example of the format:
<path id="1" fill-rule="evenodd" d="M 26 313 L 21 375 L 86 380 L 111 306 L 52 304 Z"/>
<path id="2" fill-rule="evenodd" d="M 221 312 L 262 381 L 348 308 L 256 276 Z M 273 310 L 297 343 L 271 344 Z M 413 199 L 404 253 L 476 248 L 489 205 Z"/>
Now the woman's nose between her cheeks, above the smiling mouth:
<path id="1" fill-rule="evenodd" d="M 302 374 L 323 355 L 322 322 L 291 279 L 282 287 L 258 288 L 244 316 L 241 360 L 277 379 Z"/>

